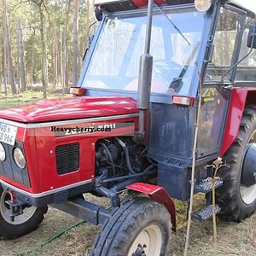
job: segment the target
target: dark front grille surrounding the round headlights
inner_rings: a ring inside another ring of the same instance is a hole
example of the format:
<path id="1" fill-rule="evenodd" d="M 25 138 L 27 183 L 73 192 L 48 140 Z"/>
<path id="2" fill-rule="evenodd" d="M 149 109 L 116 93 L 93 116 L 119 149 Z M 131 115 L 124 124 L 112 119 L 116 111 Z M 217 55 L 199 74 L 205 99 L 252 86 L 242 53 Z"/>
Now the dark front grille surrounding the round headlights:
<path id="1" fill-rule="evenodd" d="M 13 181 L 20 183 L 26 187 L 30 187 L 31 184 L 28 177 L 27 167 L 25 167 L 24 169 L 20 169 L 18 166 L 16 166 L 13 157 L 13 151 L 15 147 L 19 147 L 25 155 L 22 143 L 15 143 L 15 147 L 5 143 L 2 144 L 6 153 L 6 159 L 3 162 L 0 161 L 0 174 L 4 177 L 9 177 Z"/>

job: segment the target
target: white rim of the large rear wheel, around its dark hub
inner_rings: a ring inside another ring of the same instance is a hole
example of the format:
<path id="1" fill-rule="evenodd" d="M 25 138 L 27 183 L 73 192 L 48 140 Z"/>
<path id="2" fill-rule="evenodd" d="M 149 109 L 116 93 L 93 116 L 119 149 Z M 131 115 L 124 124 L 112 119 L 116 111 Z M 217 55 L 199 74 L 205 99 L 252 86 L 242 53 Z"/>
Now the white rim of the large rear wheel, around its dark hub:
<path id="1" fill-rule="evenodd" d="M 249 139 L 247 145 L 251 143 L 256 143 L 256 131 L 253 132 L 252 137 Z M 256 184 L 250 187 L 244 186 L 242 183 L 240 184 L 240 195 L 242 201 L 250 205 L 253 203 L 253 201 L 256 200 Z"/>

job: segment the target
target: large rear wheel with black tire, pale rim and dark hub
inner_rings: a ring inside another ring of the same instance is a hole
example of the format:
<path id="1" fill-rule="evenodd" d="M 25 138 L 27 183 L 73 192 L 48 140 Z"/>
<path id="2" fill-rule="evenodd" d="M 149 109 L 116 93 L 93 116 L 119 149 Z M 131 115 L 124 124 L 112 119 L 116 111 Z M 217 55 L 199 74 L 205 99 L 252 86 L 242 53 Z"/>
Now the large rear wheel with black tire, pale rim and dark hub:
<path id="1" fill-rule="evenodd" d="M 216 190 L 220 217 L 240 222 L 256 210 L 256 107 L 247 106 L 236 141 L 224 155 L 230 168 L 218 176 L 224 185 Z"/>

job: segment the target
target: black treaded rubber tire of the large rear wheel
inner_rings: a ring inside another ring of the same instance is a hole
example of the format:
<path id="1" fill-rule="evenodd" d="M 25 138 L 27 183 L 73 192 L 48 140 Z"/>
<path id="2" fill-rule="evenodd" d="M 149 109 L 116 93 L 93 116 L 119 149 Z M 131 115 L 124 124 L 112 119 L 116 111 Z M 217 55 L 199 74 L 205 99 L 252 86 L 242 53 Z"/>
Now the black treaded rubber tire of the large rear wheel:
<path id="1" fill-rule="evenodd" d="M 217 203 L 222 208 L 219 217 L 227 221 L 241 222 L 256 209 L 256 201 L 250 206 L 245 206 L 240 196 L 241 163 L 247 141 L 256 130 L 255 120 L 256 107 L 247 106 L 244 109 L 238 136 L 224 154 L 224 161 L 230 165 L 230 168 L 224 167 L 218 172 L 218 176 L 224 180 L 223 186 L 216 190 Z"/>

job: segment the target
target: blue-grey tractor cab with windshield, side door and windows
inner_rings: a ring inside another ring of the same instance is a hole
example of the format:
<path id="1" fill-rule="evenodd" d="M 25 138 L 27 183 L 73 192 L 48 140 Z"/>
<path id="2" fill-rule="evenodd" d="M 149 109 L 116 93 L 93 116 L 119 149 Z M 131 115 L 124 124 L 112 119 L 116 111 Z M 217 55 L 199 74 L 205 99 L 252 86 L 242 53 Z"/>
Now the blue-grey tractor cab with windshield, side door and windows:
<path id="1" fill-rule="evenodd" d="M 170 195 L 186 199 L 199 84 L 203 136 L 198 138 L 196 159 L 200 166 L 224 154 L 232 141 L 223 137 L 234 82 L 256 79 L 252 56 L 237 64 L 250 50 L 247 38 L 254 16 L 232 1 L 154 1 L 148 42 L 147 3 L 96 2 L 96 17 L 102 21 L 78 86 L 86 96 L 131 96 L 139 102 L 140 94 L 147 94 L 147 89 L 138 87 L 140 56 L 150 44 L 148 157 L 159 163 L 158 183 Z"/>

